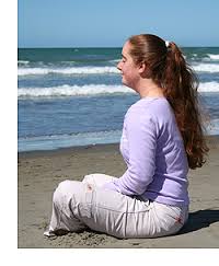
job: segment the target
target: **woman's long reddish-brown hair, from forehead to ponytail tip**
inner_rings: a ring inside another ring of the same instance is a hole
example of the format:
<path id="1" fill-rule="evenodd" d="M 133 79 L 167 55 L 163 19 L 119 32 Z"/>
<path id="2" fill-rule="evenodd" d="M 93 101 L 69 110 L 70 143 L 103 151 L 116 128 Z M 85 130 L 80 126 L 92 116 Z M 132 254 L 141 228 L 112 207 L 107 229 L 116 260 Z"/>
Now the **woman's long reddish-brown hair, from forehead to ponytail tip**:
<path id="1" fill-rule="evenodd" d="M 198 79 L 174 43 L 152 34 L 131 36 L 130 56 L 136 63 L 148 66 L 148 77 L 163 90 L 175 114 L 188 166 L 201 167 L 209 151 L 198 102 Z"/>

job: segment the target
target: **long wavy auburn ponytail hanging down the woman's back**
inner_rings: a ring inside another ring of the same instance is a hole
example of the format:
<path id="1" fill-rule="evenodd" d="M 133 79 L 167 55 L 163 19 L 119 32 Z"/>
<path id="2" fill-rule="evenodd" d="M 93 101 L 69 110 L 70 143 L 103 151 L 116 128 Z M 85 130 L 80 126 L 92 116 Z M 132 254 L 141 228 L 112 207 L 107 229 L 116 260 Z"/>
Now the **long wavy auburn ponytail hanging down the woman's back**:
<path id="1" fill-rule="evenodd" d="M 208 148 L 204 138 L 203 117 L 198 103 L 198 79 L 186 63 L 182 51 L 170 43 L 163 74 L 163 93 L 172 106 L 183 137 L 188 165 L 201 167 Z"/>

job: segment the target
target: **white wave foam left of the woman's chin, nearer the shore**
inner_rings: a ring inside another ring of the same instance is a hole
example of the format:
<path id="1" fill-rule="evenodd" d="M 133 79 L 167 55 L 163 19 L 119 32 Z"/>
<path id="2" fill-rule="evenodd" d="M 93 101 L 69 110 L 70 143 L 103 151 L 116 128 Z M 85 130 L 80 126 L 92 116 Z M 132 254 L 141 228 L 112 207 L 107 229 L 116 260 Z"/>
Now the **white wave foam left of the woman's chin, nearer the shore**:
<path id="1" fill-rule="evenodd" d="M 77 96 L 77 95 L 94 95 L 111 93 L 134 93 L 134 91 L 124 85 L 61 85 L 50 88 L 21 88 L 18 90 L 18 96 L 23 97 L 56 97 L 56 96 Z"/>

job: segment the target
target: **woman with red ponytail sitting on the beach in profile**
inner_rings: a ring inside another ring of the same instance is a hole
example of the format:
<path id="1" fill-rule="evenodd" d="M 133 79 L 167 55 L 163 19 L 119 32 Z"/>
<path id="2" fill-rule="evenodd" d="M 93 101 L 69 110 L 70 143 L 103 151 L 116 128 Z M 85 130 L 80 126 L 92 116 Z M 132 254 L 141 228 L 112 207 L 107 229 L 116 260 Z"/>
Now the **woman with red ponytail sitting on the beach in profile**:
<path id="1" fill-rule="evenodd" d="M 157 238 L 176 233 L 188 218 L 188 167 L 200 167 L 208 151 L 195 76 L 174 43 L 150 34 L 125 43 L 117 68 L 140 95 L 124 120 L 127 170 L 119 178 L 91 174 L 61 182 L 47 236 L 90 228 L 117 238 Z"/>

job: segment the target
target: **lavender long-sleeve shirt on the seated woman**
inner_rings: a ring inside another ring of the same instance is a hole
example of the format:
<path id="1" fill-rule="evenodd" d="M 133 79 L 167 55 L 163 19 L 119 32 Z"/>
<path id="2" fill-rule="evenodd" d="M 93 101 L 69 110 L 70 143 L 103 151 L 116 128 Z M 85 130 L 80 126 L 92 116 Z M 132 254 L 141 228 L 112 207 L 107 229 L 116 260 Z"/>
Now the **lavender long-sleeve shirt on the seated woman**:
<path id="1" fill-rule="evenodd" d="M 143 97 L 129 107 L 120 152 L 127 170 L 104 188 L 173 206 L 189 204 L 183 139 L 164 97 Z"/>

